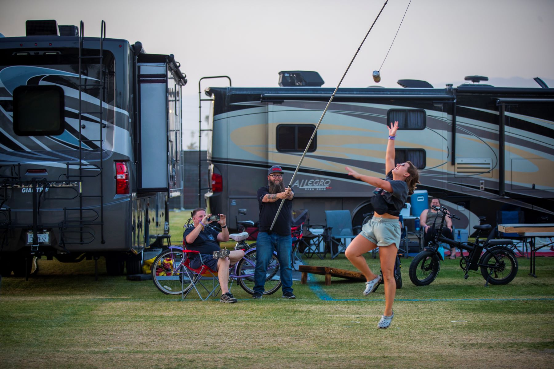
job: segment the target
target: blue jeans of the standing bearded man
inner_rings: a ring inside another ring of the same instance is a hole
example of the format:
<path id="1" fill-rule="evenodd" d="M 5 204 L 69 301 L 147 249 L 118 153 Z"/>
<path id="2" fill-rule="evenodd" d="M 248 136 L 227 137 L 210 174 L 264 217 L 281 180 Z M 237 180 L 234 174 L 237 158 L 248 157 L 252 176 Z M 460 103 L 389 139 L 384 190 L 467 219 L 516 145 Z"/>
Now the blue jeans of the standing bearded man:
<path id="1" fill-rule="evenodd" d="M 293 252 L 293 239 L 290 235 L 281 236 L 277 233 L 269 235 L 266 232 L 259 232 L 256 242 L 254 292 L 264 292 L 266 272 L 274 250 L 277 252 L 277 259 L 279 260 L 283 293 L 293 292 L 293 268 L 290 262 L 290 256 Z"/>

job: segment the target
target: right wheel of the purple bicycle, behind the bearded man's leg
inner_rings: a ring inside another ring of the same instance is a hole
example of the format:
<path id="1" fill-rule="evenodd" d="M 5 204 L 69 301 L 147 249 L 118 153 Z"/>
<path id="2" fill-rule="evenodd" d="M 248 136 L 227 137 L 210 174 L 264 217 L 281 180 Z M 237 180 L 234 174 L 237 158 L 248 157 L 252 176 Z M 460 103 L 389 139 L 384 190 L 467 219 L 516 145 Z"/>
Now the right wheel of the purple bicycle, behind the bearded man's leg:
<path id="1" fill-rule="evenodd" d="M 248 251 L 237 264 L 238 282 L 249 294 L 254 293 L 254 270 L 256 268 L 256 249 Z M 274 252 L 265 273 L 264 295 L 275 293 L 281 287 L 281 273 L 279 272 L 279 261 Z"/>

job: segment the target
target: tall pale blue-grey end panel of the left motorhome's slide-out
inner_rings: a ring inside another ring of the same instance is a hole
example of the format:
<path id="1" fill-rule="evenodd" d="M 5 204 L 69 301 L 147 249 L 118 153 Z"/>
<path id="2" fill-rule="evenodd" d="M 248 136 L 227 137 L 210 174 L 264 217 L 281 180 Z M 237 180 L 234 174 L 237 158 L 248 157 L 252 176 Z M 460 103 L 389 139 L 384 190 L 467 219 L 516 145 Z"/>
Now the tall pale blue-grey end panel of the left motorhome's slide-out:
<path id="1" fill-rule="evenodd" d="M 167 64 L 165 55 L 139 55 L 138 191 L 167 192 Z"/>

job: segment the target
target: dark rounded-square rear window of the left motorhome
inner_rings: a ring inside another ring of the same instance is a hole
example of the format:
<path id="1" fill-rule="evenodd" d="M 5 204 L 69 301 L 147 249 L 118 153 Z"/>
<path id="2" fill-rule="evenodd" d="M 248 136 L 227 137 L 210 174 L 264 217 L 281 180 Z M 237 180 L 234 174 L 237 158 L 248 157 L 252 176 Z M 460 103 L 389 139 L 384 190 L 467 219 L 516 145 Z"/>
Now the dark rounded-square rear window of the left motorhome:
<path id="1" fill-rule="evenodd" d="M 23 85 L 13 90 L 13 132 L 18 136 L 58 136 L 65 129 L 64 90 Z"/>

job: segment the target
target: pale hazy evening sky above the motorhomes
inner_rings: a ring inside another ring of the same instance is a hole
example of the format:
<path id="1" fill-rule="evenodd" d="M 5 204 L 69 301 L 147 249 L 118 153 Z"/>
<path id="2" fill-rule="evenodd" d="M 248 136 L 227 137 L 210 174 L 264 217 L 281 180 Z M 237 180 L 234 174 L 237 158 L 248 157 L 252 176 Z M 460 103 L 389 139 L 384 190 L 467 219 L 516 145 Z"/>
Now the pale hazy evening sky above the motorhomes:
<path id="1" fill-rule="evenodd" d="M 201 77 L 228 75 L 233 86 L 277 87 L 279 71 L 314 70 L 323 87 L 334 88 L 383 3 L 0 0 L 0 33 L 21 36 L 27 19 L 56 19 L 75 25 L 83 20 L 85 35 L 99 36 L 104 19 L 107 37 L 141 41 L 147 53 L 174 54 L 188 79 L 186 147 L 191 132 L 198 140 Z M 383 64 L 408 3 L 388 1 L 341 87 L 376 85 L 371 74 Z M 494 86 L 538 87 L 532 78 L 541 77 L 553 87 L 553 35 L 554 0 L 412 0 L 379 86 L 399 87 L 399 79 L 458 86 L 464 76 L 483 75 Z M 202 90 L 225 82 L 203 81 Z"/>

